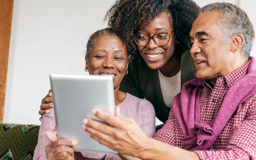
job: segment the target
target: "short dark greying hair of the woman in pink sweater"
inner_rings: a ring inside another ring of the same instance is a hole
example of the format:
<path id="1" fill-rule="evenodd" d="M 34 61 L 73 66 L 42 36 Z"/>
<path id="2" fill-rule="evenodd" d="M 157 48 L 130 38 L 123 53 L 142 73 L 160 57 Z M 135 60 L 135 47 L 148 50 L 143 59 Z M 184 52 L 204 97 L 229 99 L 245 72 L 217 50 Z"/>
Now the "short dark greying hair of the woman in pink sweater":
<path id="1" fill-rule="evenodd" d="M 89 56 L 90 51 L 95 46 L 95 43 L 96 43 L 97 39 L 99 39 L 99 38 L 101 38 L 103 36 L 118 37 L 122 41 L 122 43 L 124 44 L 124 42 L 122 40 L 122 37 L 119 36 L 119 34 L 117 33 L 117 31 L 115 29 L 113 29 L 113 28 L 100 29 L 100 30 L 97 30 L 96 32 L 94 32 L 90 36 L 90 38 L 89 38 L 89 40 L 87 42 L 85 56 L 87 56 L 87 57 Z M 124 44 L 124 46 L 125 46 L 125 44 Z M 126 53 L 127 53 L 127 57 L 129 59 L 130 56 L 129 56 L 128 52 L 127 52 L 127 47 L 126 46 L 125 46 L 125 50 L 126 50 Z"/>

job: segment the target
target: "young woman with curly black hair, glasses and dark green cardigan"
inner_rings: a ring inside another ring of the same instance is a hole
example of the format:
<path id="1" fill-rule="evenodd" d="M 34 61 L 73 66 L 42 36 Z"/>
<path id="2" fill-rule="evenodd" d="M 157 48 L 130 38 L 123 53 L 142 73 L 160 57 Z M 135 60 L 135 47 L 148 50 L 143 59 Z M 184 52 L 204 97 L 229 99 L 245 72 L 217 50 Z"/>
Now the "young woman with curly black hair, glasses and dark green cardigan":
<path id="1" fill-rule="evenodd" d="M 181 86 L 196 78 L 188 49 L 199 11 L 191 0 L 120 0 L 106 15 L 109 27 L 117 30 L 135 57 L 120 90 L 150 101 L 163 123 Z M 39 113 L 49 112 L 47 108 L 52 104 L 42 102 Z"/>

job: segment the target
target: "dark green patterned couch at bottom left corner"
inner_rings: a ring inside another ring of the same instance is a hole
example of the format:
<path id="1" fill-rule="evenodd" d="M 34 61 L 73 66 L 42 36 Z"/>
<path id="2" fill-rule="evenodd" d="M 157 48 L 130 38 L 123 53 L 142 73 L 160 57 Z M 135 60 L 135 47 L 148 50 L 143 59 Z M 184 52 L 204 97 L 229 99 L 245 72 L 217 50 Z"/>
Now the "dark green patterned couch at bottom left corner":
<path id="1" fill-rule="evenodd" d="M 0 160 L 33 159 L 39 125 L 0 124 Z"/>

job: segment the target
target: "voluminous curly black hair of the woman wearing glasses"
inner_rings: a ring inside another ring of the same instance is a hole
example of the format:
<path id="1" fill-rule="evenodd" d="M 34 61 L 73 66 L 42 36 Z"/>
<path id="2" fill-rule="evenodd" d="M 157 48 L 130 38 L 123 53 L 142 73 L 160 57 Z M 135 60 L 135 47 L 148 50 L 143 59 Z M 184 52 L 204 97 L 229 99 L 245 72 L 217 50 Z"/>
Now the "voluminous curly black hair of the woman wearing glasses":
<path id="1" fill-rule="evenodd" d="M 109 27 L 115 28 L 121 35 L 127 51 L 133 56 L 138 56 L 133 34 L 162 12 L 171 16 L 174 34 L 179 40 L 176 49 L 181 54 L 189 48 L 189 32 L 200 13 L 200 7 L 192 0 L 117 0 L 108 10 L 105 20 L 108 20 Z"/>

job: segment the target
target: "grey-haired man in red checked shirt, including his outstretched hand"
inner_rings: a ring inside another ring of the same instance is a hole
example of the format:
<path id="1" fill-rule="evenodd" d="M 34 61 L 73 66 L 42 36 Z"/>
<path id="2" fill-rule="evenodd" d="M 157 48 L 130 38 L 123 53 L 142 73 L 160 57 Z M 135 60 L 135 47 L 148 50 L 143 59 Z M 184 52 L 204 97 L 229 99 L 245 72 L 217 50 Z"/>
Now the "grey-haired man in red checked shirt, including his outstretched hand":
<path id="1" fill-rule="evenodd" d="M 109 126 L 85 118 L 82 128 L 120 156 L 256 159 L 256 62 L 249 57 L 254 39 L 250 20 L 233 4 L 209 4 L 194 21 L 190 37 L 200 79 L 183 85 L 155 139 L 118 108 L 116 116 L 92 110 Z"/>

